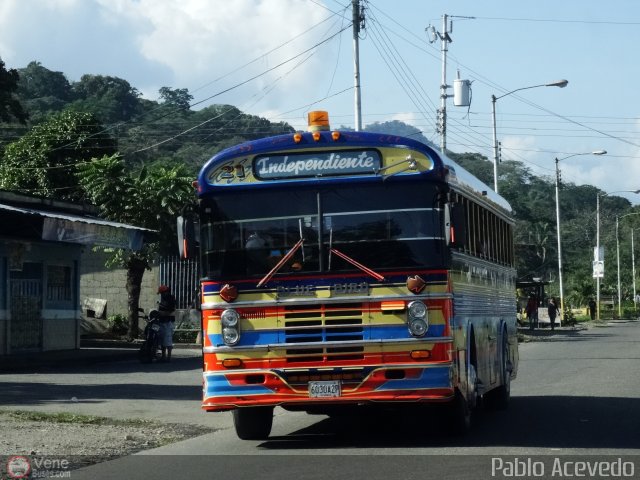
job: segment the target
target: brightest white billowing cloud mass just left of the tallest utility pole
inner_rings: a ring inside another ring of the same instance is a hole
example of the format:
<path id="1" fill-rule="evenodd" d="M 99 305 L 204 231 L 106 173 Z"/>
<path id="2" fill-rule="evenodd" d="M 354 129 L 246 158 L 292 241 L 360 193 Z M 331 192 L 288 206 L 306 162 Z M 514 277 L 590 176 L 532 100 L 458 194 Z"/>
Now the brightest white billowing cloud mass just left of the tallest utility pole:
<path id="1" fill-rule="evenodd" d="M 260 57 L 329 15 L 318 5 L 299 0 L 99 1 L 112 18 L 135 26 L 139 53 L 148 62 L 172 72 L 173 82 L 168 86 L 189 88 L 196 100 L 259 75 L 310 48 L 320 41 L 327 27 Z M 251 101 L 252 95 L 259 95 L 261 89 L 278 79 L 276 97 L 278 93 L 303 88 L 322 72 L 324 55 L 315 54 L 300 68 L 284 75 L 299 62 L 294 60 L 229 96 L 235 103 Z M 222 78 L 252 60 L 255 61 L 237 74 Z M 207 86 L 206 90 L 198 93 L 202 86 Z M 231 103 L 228 99 L 223 102 Z"/>

